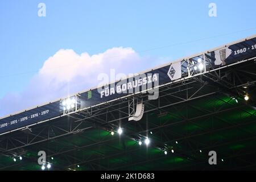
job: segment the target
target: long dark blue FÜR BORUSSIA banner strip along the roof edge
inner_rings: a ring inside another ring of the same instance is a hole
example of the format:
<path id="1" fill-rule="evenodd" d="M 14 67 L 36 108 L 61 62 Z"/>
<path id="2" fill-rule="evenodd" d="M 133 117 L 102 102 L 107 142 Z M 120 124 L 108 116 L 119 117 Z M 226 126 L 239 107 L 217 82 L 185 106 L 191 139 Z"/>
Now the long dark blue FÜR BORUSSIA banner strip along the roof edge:
<path id="1" fill-rule="evenodd" d="M 256 35 L 0 119 L 0 135 L 255 60 Z M 137 84 L 136 84 L 137 83 Z M 127 106 L 128 107 L 128 106 Z M 135 113 L 134 113 L 135 114 Z"/>

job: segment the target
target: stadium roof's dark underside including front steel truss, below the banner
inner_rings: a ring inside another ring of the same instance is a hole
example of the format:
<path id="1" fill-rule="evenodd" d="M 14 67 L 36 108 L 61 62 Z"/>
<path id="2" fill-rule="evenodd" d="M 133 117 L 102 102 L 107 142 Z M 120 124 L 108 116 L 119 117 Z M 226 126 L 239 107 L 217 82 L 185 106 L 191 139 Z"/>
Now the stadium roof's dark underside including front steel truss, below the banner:
<path id="1" fill-rule="evenodd" d="M 248 57 L 163 85 L 156 100 L 138 93 L 2 135 L 0 170 L 40 170 L 42 150 L 55 170 L 255 169 L 255 68 Z M 135 101 L 143 118 L 128 121 Z"/>

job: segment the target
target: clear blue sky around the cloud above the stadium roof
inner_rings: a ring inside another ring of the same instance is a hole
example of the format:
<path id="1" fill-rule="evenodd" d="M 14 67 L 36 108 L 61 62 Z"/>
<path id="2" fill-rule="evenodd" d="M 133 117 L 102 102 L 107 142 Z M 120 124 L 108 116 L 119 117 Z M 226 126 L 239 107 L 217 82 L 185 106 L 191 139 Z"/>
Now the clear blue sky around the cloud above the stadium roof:
<path id="1" fill-rule="evenodd" d="M 38 16 L 40 2 L 46 4 L 46 17 Z M 217 17 L 208 16 L 211 2 L 217 5 Z M 255 8 L 254 0 L 1 0 L 0 101 L 31 88 L 31 80 L 60 49 L 97 55 L 129 47 L 144 57 L 138 66 L 143 71 L 256 34 Z M 0 111 L 0 117 L 9 111 L 15 110 Z"/>

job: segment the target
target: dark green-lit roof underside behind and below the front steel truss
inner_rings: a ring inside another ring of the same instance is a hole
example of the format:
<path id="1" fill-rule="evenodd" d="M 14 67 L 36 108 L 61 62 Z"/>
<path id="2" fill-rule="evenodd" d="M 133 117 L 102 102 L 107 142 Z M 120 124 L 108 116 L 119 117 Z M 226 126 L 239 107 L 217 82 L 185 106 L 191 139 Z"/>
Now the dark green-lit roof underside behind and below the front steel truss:
<path id="1" fill-rule="evenodd" d="M 251 68 L 255 73 L 254 68 L 255 63 Z M 255 81 L 255 75 L 250 78 Z M 200 84 L 192 86 L 200 88 Z M 204 89 L 210 91 L 210 88 Z M 206 92 L 204 89 L 200 90 L 201 94 Z M 168 92 L 167 89 L 162 95 Z M 183 97 L 183 93 L 174 92 L 172 96 L 164 96 L 161 102 L 170 104 L 177 97 Z M 248 103 L 243 96 L 237 96 L 236 101 L 225 92 L 205 94 L 156 109 L 152 108 L 158 101 L 145 102 L 146 112 L 139 122 L 128 122 L 125 111 L 119 112 L 127 107 L 127 102 L 123 101 L 123 104 L 109 107 L 109 115 L 94 116 L 83 122 L 75 122 L 76 115 L 73 115 L 42 123 L 32 127 L 32 134 L 17 131 L 0 138 L 0 170 L 40 170 L 37 164 L 40 150 L 46 151 L 47 161 L 55 170 L 256 169 L 254 96 L 255 85 L 251 85 L 251 102 Z M 65 134 L 63 130 L 68 130 L 70 125 L 82 130 Z M 123 128 L 121 136 L 116 132 L 119 125 Z M 112 129 L 115 130 L 113 136 Z M 62 132 L 62 137 L 55 138 Z M 138 140 L 146 136 L 150 144 L 140 146 Z M 14 146 L 22 145 L 20 142 L 27 137 L 32 144 L 15 149 Z M 15 139 L 19 142 L 15 143 Z M 6 150 L 8 140 L 8 147 L 13 150 Z M 217 152 L 217 165 L 210 166 L 208 152 L 212 150 Z M 22 155 L 23 160 L 17 158 L 14 162 L 14 155 Z"/>

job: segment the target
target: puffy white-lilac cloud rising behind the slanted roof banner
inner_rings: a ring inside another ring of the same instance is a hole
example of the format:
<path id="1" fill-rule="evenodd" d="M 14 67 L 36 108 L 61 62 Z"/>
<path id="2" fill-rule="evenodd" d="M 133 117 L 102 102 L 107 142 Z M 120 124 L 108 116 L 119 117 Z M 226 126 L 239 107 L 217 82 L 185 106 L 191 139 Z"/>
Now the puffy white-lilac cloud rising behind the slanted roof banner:
<path id="1" fill-rule="evenodd" d="M 110 69 L 127 75 L 150 68 L 157 61 L 139 56 L 132 48 L 111 48 L 92 56 L 61 49 L 44 62 L 23 92 L 9 93 L 0 99 L 0 116 L 97 86 L 98 74 L 109 74 Z"/>

